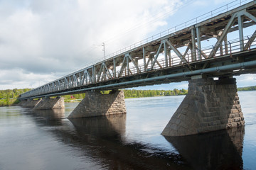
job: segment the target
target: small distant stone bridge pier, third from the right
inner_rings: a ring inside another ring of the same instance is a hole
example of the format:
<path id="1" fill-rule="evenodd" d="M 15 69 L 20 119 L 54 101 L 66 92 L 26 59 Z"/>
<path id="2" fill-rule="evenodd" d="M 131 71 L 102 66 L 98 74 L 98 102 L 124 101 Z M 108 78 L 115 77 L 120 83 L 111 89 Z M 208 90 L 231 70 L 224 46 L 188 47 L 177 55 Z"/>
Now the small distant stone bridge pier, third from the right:
<path id="1" fill-rule="evenodd" d="M 64 98 L 42 98 L 41 101 L 33 108 L 34 110 L 46 110 L 55 108 L 65 108 Z"/>

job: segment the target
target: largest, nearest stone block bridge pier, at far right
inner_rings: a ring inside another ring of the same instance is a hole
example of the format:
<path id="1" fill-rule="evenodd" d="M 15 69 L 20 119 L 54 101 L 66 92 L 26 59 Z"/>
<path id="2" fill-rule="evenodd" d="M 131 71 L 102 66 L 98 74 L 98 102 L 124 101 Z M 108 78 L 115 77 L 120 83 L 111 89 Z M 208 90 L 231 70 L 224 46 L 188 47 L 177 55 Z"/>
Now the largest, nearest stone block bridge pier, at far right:
<path id="1" fill-rule="evenodd" d="M 235 79 L 193 79 L 162 135 L 185 136 L 245 125 Z"/>

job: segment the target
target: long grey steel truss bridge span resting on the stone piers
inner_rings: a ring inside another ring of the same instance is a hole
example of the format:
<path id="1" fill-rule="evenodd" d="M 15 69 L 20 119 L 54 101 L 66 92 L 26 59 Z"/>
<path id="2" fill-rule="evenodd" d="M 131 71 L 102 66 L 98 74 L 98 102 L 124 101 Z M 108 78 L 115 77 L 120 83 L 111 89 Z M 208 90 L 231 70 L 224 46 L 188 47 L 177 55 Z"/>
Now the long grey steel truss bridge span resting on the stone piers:
<path id="1" fill-rule="evenodd" d="M 256 30 L 247 36 L 243 32 L 245 28 L 255 29 L 256 1 L 238 5 L 229 11 L 227 5 L 206 13 L 186 22 L 185 26 L 171 28 L 131 45 L 112 57 L 21 94 L 19 98 L 165 84 L 187 81 L 202 74 L 225 77 L 255 73 Z M 218 15 L 213 16 L 215 13 Z M 203 18 L 208 19 L 203 21 Z M 239 38 L 229 38 L 236 30 Z M 215 39 L 215 45 L 202 48 L 201 42 L 209 39 Z"/>

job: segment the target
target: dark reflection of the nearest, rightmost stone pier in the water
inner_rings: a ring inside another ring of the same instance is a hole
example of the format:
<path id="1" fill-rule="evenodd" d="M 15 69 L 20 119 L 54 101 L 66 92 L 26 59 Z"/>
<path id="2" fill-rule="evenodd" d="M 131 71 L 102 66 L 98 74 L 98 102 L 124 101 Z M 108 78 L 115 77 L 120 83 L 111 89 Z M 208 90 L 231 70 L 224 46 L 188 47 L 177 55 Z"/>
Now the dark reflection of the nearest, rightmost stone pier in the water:
<path id="1" fill-rule="evenodd" d="M 194 169 L 242 169 L 245 128 L 186 137 L 166 137 Z"/>

